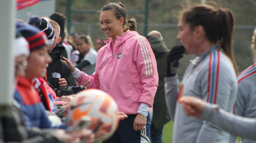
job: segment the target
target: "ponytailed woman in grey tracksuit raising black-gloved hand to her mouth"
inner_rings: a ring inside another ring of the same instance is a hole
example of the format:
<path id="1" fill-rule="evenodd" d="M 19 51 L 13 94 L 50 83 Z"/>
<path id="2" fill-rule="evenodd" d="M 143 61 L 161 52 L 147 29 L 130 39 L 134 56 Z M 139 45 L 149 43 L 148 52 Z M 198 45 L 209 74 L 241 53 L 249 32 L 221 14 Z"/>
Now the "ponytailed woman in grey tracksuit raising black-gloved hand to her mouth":
<path id="1" fill-rule="evenodd" d="M 173 47 L 167 57 L 165 83 L 167 106 L 174 119 L 173 143 L 228 142 L 229 133 L 205 121 L 187 117 L 183 95 L 195 96 L 232 111 L 236 95 L 236 67 L 232 53 L 233 15 L 229 10 L 207 5 L 182 12 L 177 38 L 183 46 Z M 183 76 L 180 90 L 176 70 L 182 54 L 196 54 Z"/>

